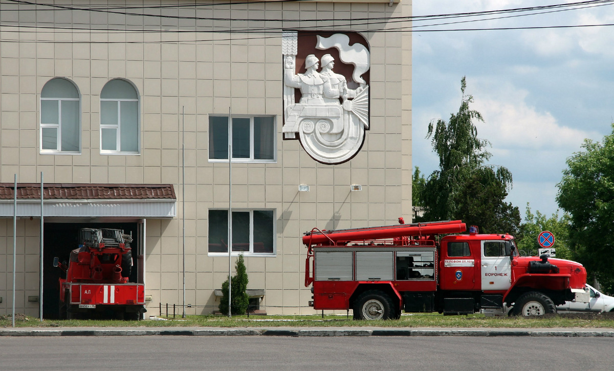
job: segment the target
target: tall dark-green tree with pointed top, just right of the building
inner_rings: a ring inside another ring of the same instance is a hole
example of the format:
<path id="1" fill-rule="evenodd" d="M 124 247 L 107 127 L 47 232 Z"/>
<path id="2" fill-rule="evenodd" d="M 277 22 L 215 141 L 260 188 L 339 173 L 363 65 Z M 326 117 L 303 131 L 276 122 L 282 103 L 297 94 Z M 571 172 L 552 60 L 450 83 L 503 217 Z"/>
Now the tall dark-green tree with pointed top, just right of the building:
<path id="1" fill-rule="evenodd" d="M 491 153 L 488 140 L 478 138 L 474 121 L 484 121 L 480 112 L 470 109 L 473 96 L 465 94 L 467 83 L 461 79 L 461 107 L 446 123 L 429 123 L 427 139 L 439 156 L 439 170 L 434 171 L 421 194 L 426 212 L 422 220 L 469 219 L 482 231 L 518 230 L 517 207 L 503 202 L 511 188 L 511 172 L 506 167 L 486 164 Z M 488 210 L 488 217 L 480 213 Z"/>

